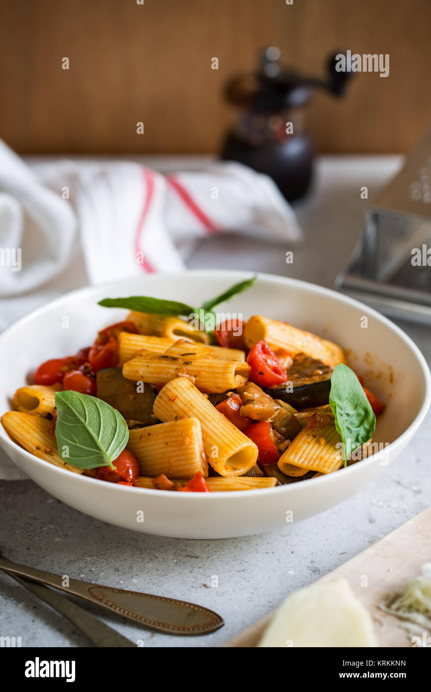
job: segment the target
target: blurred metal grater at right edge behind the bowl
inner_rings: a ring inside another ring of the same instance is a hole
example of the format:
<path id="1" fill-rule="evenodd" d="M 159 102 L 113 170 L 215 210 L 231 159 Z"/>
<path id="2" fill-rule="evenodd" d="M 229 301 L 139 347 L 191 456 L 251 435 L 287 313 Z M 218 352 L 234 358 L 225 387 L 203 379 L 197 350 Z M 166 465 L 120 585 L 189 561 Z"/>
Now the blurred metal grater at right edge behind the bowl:
<path id="1" fill-rule="evenodd" d="M 389 317 L 431 325 L 431 131 L 365 215 L 335 288 Z"/>

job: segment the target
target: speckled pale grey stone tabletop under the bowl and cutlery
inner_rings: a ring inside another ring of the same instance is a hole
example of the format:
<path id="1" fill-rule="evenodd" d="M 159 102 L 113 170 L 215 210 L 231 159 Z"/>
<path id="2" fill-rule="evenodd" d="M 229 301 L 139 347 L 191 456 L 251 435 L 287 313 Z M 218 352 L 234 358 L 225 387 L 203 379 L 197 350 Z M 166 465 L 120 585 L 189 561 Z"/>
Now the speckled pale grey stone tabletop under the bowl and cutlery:
<path id="1" fill-rule="evenodd" d="M 205 240 L 189 265 L 288 273 L 331 286 L 363 221 L 367 201 L 360 199 L 360 187 L 367 185 L 372 199 L 400 162 L 399 157 L 322 158 L 313 194 L 295 206 L 306 240 L 294 250 L 292 265 L 284 262 L 290 248 L 235 236 Z M 147 163 L 162 169 L 177 165 L 160 159 Z M 74 288 L 83 278 L 75 274 L 61 290 Z M 51 300 L 58 290 L 48 286 L 33 295 L 26 311 Z M 401 327 L 430 363 L 430 329 L 406 323 Z M 431 504 L 430 428 L 428 414 L 405 453 L 376 482 L 338 507 L 283 531 L 246 538 L 181 540 L 132 533 L 66 507 L 30 480 L 3 481 L 0 547 L 12 560 L 44 570 L 208 605 L 226 626 L 210 636 L 184 638 L 155 634 L 92 610 L 148 647 L 219 646 L 289 591 L 335 569 Z M 23 646 L 86 646 L 73 626 L 3 574 L 0 635 L 21 636 Z"/>

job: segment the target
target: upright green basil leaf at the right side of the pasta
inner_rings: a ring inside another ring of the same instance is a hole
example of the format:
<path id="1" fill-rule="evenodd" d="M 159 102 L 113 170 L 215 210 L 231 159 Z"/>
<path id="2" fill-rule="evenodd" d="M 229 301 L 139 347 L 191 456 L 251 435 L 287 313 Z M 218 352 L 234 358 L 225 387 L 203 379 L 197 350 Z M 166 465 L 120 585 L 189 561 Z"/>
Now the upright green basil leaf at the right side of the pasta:
<path id="1" fill-rule="evenodd" d="M 356 374 L 347 365 L 336 365 L 331 376 L 329 403 L 344 444 L 344 462 L 367 442 L 376 429 L 376 416 Z"/>

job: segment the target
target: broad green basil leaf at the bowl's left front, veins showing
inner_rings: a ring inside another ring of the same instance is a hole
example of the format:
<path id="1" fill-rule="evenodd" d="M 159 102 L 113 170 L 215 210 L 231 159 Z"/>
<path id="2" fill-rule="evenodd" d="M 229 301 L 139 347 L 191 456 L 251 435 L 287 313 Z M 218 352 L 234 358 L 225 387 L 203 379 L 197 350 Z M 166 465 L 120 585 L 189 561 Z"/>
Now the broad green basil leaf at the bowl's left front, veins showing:
<path id="1" fill-rule="evenodd" d="M 55 392 L 59 454 L 77 468 L 111 466 L 127 445 L 127 423 L 109 403 L 66 390 Z"/>

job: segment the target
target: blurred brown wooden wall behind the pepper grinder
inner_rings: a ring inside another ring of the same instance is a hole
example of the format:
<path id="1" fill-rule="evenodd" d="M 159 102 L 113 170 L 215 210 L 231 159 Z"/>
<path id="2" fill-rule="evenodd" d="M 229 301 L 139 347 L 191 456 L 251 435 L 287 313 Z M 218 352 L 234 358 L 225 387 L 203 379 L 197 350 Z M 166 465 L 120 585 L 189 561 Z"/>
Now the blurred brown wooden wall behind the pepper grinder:
<path id="1" fill-rule="evenodd" d="M 403 152 L 430 123 L 430 0 L 144 2 L 1 0 L 0 137 L 21 153 L 217 152 L 222 85 L 264 45 L 320 74 L 334 50 L 389 53 L 388 78 L 316 95 L 321 152 Z"/>

